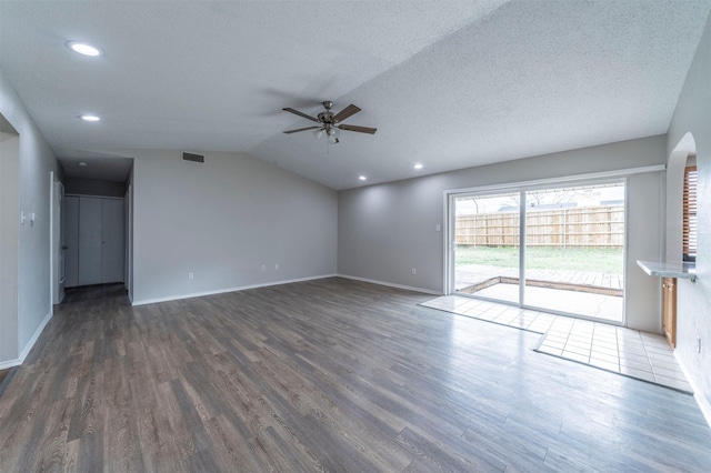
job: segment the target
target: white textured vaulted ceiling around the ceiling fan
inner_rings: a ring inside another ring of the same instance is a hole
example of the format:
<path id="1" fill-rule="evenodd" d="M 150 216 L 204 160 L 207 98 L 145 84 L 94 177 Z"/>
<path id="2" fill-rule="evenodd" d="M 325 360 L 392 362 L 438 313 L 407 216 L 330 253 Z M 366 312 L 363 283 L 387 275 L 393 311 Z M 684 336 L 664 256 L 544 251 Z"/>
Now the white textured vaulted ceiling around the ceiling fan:
<path id="1" fill-rule="evenodd" d="M 348 189 L 665 133 L 710 8 L 0 1 L 0 68 L 66 168 L 101 169 L 111 149 L 233 151 Z M 347 123 L 378 133 L 281 133 L 311 124 L 283 107 L 322 100 L 356 103 Z"/>

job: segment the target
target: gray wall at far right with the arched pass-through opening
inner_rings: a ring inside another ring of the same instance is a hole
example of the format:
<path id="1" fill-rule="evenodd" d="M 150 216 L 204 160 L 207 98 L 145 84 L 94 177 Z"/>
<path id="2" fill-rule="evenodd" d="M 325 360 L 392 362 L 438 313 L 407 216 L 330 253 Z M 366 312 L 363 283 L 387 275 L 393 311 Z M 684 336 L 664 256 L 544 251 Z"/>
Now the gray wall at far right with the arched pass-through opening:
<path id="1" fill-rule="evenodd" d="M 668 134 L 668 154 L 685 133 L 693 135 L 699 170 L 698 282 L 678 284 L 677 354 L 705 403 L 711 422 L 711 20 L 687 74 Z M 701 353 L 697 352 L 701 338 Z"/>

